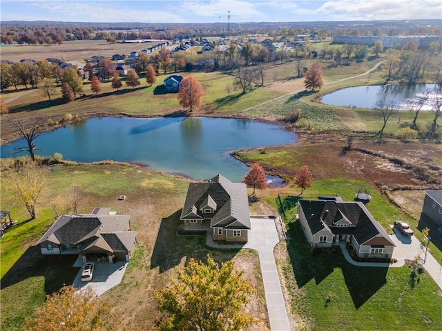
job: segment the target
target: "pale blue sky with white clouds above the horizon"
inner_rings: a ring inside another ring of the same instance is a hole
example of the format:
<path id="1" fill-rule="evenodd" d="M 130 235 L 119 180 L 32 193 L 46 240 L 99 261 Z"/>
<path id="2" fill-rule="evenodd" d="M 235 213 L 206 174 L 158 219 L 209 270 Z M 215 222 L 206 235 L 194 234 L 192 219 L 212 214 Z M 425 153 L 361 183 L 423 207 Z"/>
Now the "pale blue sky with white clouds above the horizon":
<path id="1" fill-rule="evenodd" d="M 442 1 L 0 0 L 0 21 L 240 23 L 390 19 L 442 21 Z"/>

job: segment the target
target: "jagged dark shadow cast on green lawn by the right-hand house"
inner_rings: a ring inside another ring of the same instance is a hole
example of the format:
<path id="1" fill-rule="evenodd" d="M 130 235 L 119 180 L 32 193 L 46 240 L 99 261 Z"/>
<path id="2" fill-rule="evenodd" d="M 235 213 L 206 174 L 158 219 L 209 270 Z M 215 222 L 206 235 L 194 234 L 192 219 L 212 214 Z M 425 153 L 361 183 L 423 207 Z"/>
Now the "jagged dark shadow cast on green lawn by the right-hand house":
<path id="1" fill-rule="evenodd" d="M 387 283 L 388 268 L 352 265 L 336 246 L 312 249 L 304 237 L 300 221 L 289 223 L 287 238 L 287 249 L 298 288 L 304 287 L 312 279 L 319 284 L 335 268 L 340 268 L 354 306 L 358 309 Z"/>

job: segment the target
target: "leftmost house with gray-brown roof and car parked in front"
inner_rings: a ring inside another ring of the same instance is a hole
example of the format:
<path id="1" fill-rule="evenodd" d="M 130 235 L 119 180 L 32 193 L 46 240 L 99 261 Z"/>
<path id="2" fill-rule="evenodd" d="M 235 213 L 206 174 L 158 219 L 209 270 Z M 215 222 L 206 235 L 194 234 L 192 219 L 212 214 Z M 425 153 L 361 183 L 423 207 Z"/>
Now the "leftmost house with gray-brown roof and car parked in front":
<path id="1" fill-rule="evenodd" d="M 130 230 L 130 215 L 111 208 L 95 208 L 90 214 L 61 215 L 41 237 L 41 254 L 77 254 L 86 261 L 129 261 L 137 232 Z"/>

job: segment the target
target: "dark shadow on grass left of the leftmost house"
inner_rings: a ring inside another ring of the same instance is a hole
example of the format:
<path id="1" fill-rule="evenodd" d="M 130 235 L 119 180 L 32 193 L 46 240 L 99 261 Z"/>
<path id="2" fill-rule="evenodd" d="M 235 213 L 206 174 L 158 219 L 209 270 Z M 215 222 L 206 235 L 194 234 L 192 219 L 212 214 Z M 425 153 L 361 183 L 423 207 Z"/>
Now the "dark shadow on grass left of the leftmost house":
<path id="1" fill-rule="evenodd" d="M 44 256 L 39 246 L 31 246 L 1 278 L 1 288 L 32 277 L 44 277 L 46 294 L 57 292 L 65 284 L 72 284 L 79 268 L 73 267 L 77 255 Z"/>

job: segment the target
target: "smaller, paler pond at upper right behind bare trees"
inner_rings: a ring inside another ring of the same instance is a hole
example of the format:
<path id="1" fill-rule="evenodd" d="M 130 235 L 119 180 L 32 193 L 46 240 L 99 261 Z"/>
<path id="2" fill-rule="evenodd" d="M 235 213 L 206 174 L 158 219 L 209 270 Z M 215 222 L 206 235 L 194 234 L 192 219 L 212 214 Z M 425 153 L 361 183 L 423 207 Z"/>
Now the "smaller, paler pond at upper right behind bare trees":
<path id="1" fill-rule="evenodd" d="M 441 86 L 436 84 L 354 86 L 325 94 L 320 102 L 334 106 L 371 109 L 383 104 L 397 110 L 413 110 L 416 99 L 428 90 L 434 91 L 432 96 L 441 94 Z M 430 108 L 430 103 L 427 103 L 423 110 Z"/>

